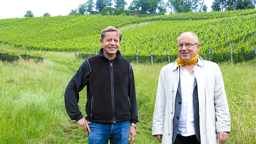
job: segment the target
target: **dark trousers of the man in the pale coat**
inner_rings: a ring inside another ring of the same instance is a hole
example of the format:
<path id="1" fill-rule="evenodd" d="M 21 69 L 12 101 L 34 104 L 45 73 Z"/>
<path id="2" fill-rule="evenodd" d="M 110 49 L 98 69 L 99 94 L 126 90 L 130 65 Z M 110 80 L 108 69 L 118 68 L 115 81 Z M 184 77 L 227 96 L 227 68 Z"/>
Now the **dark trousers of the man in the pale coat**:
<path id="1" fill-rule="evenodd" d="M 196 135 L 185 137 L 177 134 L 173 144 L 200 144 L 200 142 L 198 142 Z"/>

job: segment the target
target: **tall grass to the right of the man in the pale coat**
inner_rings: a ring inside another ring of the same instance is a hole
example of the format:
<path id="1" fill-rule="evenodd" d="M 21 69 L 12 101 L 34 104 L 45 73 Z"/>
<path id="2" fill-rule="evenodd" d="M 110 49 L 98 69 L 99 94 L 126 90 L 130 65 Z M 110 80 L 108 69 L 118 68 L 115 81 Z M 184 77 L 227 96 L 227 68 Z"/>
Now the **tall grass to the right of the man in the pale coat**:
<path id="1" fill-rule="evenodd" d="M 254 60 L 255 61 L 255 60 Z M 244 62 L 234 66 L 221 64 L 231 116 L 227 143 L 256 143 L 256 68 Z"/>

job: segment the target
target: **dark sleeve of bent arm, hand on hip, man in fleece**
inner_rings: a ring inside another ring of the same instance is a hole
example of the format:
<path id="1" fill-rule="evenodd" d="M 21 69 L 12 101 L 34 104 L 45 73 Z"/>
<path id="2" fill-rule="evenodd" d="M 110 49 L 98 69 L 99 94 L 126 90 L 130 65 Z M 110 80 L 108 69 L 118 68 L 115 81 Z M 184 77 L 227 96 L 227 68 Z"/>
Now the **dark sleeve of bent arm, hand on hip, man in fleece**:
<path id="1" fill-rule="evenodd" d="M 91 76 L 90 65 L 88 61 L 84 61 L 79 67 L 75 75 L 69 81 L 65 90 L 65 107 L 70 119 L 78 121 L 83 118 L 82 112 L 79 110 L 79 92 L 86 86 Z"/>

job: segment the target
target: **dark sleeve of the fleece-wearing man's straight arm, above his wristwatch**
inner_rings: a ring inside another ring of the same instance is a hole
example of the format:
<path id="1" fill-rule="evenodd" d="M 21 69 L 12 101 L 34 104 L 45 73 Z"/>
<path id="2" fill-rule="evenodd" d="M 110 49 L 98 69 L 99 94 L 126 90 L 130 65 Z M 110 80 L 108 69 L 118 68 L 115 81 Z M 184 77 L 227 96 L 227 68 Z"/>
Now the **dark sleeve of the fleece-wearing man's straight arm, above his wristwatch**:
<path id="1" fill-rule="evenodd" d="M 131 120 L 130 122 L 132 123 L 137 123 L 138 120 L 138 107 L 137 107 L 137 99 L 136 99 L 136 91 L 135 91 L 135 82 L 134 82 L 134 75 L 133 75 L 133 70 L 132 70 L 132 66 L 130 66 L 130 81 L 129 81 L 129 93 L 128 96 L 130 98 L 131 101 Z"/>

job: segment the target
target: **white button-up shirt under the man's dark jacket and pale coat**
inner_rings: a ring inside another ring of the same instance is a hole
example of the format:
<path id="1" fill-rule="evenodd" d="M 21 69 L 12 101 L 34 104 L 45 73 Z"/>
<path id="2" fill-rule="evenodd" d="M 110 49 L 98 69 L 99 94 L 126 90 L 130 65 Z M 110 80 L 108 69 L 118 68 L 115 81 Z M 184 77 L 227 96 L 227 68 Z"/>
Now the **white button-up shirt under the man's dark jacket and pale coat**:
<path id="1" fill-rule="evenodd" d="M 183 67 L 180 67 L 181 76 L 181 115 L 178 127 L 178 134 L 182 136 L 191 136 L 195 133 L 194 125 L 194 107 L 193 107 L 193 91 L 194 91 L 194 69 L 189 73 Z"/>

